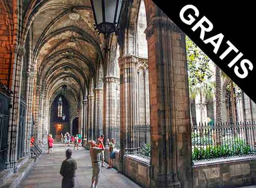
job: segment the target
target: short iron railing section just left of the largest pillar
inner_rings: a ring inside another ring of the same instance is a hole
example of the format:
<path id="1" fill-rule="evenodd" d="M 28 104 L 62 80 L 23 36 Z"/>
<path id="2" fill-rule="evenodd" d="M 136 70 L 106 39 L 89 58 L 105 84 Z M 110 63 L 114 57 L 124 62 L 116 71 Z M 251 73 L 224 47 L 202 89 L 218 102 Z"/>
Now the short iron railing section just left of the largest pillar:
<path id="1" fill-rule="evenodd" d="M 137 155 L 150 159 L 150 125 L 133 126 L 134 148 L 137 149 Z"/>

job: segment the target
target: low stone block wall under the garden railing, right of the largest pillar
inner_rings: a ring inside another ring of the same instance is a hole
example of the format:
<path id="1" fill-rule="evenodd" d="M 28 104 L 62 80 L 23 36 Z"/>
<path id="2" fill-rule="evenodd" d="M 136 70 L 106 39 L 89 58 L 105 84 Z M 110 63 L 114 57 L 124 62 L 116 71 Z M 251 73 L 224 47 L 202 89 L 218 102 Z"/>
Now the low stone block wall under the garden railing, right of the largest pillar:
<path id="1" fill-rule="evenodd" d="M 201 162 L 192 168 L 193 188 L 232 188 L 256 183 L 255 157 Z"/>

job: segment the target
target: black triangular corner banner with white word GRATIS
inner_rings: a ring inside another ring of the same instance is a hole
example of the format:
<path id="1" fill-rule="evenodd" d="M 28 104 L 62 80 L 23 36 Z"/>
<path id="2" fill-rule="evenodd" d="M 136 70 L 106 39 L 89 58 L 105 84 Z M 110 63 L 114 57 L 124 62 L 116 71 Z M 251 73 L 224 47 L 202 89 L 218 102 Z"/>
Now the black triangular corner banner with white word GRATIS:
<path id="1" fill-rule="evenodd" d="M 152 1 L 256 102 L 252 3 L 231 6 L 214 1 L 170 5 L 170 1 Z"/>

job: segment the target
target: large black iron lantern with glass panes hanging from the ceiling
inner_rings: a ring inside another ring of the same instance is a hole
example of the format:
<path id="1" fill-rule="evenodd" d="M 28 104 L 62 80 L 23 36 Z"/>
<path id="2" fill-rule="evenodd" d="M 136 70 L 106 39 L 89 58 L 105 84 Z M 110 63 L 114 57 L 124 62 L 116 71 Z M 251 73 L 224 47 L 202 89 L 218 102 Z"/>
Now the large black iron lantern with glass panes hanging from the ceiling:
<path id="1" fill-rule="evenodd" d="M 117 25 L 123 0 L 91 0 L 95 29 L 105 38 L 111 33 L 118 33 Z"/>

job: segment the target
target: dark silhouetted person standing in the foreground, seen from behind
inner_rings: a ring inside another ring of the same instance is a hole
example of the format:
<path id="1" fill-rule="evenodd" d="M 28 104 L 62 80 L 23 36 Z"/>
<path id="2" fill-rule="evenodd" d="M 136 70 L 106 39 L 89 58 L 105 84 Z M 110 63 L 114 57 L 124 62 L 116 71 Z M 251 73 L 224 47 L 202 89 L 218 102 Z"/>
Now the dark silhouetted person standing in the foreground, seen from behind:
<path id="1" fill-rule="evenodd" d="M 71 157 L 72 151 L 70 149 L 66 150 L 66 157 L 67 159 L 64 160 L 60 167 L 60 175 L 62 178 L 61 188 L 73 188 L 74 187 L 74 177 L 75 177 L 75 170 L 76 162 L 75 159 Z"/>

